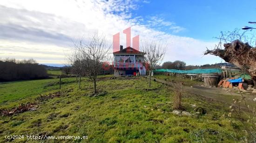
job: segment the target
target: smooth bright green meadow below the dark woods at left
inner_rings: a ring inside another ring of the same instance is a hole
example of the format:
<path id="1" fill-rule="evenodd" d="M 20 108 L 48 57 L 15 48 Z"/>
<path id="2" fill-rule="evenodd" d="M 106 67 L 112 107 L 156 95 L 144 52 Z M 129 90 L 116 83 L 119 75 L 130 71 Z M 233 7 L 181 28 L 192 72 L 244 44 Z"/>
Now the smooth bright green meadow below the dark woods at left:
<path id="1" fill-rule="evenodd" d="M 63 78 L 63 86 L 75 82 L 74 78 Z M 48 91 L 59 89 L 59 79 L 13 81 L 0 83 L 0 108 L 15 106 Z"/>

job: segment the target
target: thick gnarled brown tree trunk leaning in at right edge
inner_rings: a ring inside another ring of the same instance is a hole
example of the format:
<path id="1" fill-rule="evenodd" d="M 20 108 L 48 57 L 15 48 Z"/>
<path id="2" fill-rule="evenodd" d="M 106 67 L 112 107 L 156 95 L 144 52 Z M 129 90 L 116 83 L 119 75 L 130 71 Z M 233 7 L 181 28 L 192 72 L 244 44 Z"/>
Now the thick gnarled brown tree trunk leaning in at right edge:
<path id="1" fill-rule="evenodd" d="M 235 64 L 238 68 L 248 73 L 256 86 L 256 48 L 248 43 L 235 40 L 232 43 L 224 44 L 224 49 L 207 50 L 204 55 L 211 54 L 221 57 L 229 63 Z"/>

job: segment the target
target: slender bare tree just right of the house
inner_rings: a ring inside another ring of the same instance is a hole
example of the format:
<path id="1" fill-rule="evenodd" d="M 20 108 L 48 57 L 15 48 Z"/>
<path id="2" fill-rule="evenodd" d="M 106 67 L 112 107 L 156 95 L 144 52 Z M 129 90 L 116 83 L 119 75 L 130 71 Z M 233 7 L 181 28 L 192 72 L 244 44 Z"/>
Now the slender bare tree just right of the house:
<path id="1" fill-rule="evenodd" d="M 167 44 L 163 44 L 161 41 L 150 41 L 141 44 L 141 50 L 145 52 L 145 62 L 148 63 L 149 71 L 149 83 L 148 87 L 151 87 L 151 73 L 155 67 L 159 66 L 164 58 L 167 50 Z"/>

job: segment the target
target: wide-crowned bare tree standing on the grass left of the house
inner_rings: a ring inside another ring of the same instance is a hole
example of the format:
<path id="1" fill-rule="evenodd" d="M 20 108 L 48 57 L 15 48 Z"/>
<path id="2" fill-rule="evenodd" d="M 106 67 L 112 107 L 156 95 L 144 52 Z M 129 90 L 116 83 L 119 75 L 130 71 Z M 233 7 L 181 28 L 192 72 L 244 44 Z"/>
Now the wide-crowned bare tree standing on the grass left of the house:
<path id="1" fill-rule="evenodd" d="M 94 94 L 96 91 L 96 78 L 101 69 L 101 63 L 108 54 L 110 44 L 105 36 L 94 33 L 85 43 L 83 40 L 74 43 L 73 66 L 77 68 L 80 76 L 86 76 L 94 81 Z"/>

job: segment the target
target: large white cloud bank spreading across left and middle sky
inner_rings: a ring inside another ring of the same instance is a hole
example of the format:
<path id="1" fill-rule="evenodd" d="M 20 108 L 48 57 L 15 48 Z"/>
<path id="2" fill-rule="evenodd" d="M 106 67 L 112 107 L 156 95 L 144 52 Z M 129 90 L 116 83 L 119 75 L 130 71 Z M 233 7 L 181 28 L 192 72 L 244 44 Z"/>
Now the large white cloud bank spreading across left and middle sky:
<path id="1" fill-rule="evenodd" d="M 141 40 L 158 37 L 167 41 L 164 61 L 183 60 L 197 65 L 220 62 L 217 57 L 202 57 L 205 47 L 213 42 L 154 30 L 152 26 L 157 23 L 169 26 L 173 33 L 184 28 L 158 17 L 151 19 L 151 25 L 143 25 L 143 17 L 132 18 L 131 10 L 137 8 L 132 0 L 2 0 L 0 57 L 64 63 L 72 39 L 98 31 L 112 41 L 115 33 L 132 26 L 132 36 L 139 34 Z M 125 36 L 121 35 L 121 44 L 124 42 Z"/>

